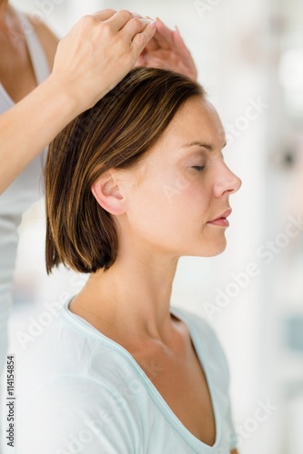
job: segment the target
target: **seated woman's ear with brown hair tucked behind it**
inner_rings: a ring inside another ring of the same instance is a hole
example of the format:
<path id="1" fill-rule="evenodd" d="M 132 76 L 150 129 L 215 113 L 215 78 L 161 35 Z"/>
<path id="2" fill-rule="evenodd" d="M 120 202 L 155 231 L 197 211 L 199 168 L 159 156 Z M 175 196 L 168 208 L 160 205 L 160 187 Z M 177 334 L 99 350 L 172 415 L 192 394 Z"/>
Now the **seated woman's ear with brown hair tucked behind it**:
<path id="1" fill-rule="evenodd" d="M 98 202 L 106 212 L 116 215 L 124 214 L 126 212 L 126 199 L 120 192 L 114 173 L 110 170 L 103 173 L 96 182 L 92 184 L 91 190 L 96 198 L 96 202 Z"/>

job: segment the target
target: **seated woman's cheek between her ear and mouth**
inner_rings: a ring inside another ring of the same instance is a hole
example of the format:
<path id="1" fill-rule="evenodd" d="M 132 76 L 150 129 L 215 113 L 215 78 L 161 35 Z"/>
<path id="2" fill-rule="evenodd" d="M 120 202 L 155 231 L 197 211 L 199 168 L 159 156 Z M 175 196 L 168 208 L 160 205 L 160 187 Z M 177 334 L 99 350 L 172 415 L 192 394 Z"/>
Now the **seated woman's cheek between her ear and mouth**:
<path id="1" fill-rule="evenodd" d="M 149 169 L 144 182 L 130 194 L 128 222 L 133 232 L 145 238 L 169 242 L 173 236 L 174 241 L 184 240 L 189 232 L 201 232 L 208 221 L 209 184 L 193 169 L 183 173 L 168 173 L 165 165 L 162 169 L 157 173 Z"/>

